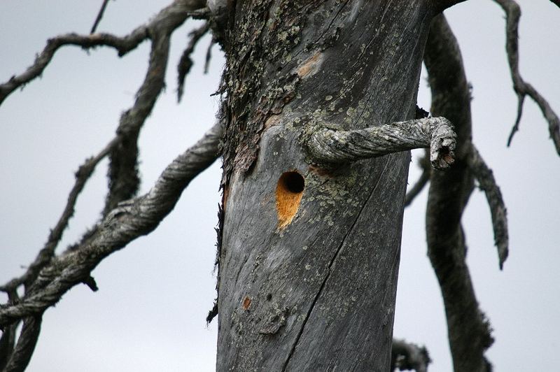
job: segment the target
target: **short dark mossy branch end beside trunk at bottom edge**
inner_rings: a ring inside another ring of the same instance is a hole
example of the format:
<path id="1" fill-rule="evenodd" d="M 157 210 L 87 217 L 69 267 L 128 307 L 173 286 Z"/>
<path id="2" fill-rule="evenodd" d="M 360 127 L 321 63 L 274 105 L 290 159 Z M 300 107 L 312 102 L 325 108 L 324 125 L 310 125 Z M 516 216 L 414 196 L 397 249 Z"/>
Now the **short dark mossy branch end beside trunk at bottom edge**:
<path id="1" fill-rule="evenodd" d="M 414 370 L 416 372 L 427 372 L 431 359 L 425 347 L 404 340 L 393 338 L 391 348 L 391 372 Z"/>

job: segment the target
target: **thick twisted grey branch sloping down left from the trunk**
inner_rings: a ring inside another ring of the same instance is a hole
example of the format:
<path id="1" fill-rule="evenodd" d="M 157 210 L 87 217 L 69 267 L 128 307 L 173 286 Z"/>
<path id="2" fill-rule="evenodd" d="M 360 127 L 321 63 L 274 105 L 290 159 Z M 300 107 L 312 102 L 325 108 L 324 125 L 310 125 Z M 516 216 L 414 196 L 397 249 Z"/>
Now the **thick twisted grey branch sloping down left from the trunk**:
<path id="1" fill-rule="evenodd" d="M 120 203 L 78 248 L 53 258 L 21 301 L 0 306 L 0 327 L 42 313 L 71 287 L 88 280 L 104 257 L 158 227 L 190 180 L 216 160 L 222 131 L 221 124 L 216 124 L 167 166 L 147 194 Z"/>

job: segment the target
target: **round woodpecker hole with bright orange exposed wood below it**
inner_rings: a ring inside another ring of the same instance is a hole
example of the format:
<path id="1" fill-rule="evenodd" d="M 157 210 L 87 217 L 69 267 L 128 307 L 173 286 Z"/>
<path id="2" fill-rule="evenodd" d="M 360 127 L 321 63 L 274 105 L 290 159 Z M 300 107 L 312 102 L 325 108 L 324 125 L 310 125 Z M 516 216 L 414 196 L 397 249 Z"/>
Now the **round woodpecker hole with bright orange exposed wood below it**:
<path id="1" fill-rule="evenodd" d="M 292 222 L 297 209 L 300 208 L 304 187 L 305 181 L 300 173 L 284 172 L 280 176 L 276 186 L 276 212 L 280 228 Z"/>

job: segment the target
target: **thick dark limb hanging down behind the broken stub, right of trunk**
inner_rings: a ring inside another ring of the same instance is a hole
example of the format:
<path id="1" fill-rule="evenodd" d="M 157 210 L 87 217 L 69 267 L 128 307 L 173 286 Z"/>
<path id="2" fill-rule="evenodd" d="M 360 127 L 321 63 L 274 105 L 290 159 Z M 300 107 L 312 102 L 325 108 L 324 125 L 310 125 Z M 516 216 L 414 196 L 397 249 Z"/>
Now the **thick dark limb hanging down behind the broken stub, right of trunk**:
<path id="1" fill-rule="evenodd" d="M 445 172 L 433 171 L 430 179 L 426 208 L 428 257 L 442 291 L 454 371 L 489 371 L 484 351 L 493 340 L 470 279 L 461 226 L 474 187 L 468 166 L 472 136 L 470 92 L 461 51 L 443 15 L 434 17 L 431 24 L 424 63 L 432 92 L 431 111 L 448 117 L 457 134 L 456 163 Z"/>

